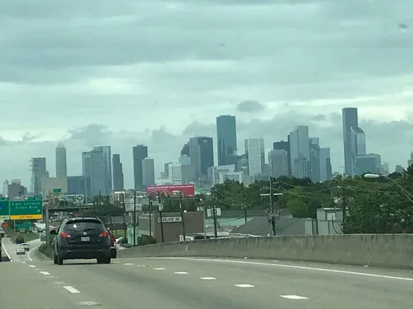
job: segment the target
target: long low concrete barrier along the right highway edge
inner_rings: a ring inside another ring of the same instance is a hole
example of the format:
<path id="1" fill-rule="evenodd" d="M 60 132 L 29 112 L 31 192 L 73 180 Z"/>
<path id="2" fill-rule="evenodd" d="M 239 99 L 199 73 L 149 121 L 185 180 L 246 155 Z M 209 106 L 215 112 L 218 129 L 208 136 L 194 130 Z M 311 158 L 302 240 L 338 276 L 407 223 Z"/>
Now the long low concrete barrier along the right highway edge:
<path id="1" fill-rule="evenodd" d="M 149 244 L 118 252 L 118 258 L 143 257 L 246 257 L 413 268 L 413 234 L 221 238 Z"/>

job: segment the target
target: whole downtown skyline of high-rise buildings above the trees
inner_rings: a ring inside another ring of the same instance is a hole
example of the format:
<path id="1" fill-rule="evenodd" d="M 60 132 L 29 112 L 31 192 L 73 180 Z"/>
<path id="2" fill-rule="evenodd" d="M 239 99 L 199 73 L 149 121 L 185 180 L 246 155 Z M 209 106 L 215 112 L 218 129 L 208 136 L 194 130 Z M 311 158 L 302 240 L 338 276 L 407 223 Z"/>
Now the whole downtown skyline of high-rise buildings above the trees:
<path id="1" fill-rule="evenodd" d="M 359 127 L 357 108 L 343 108 L 342 120 L 342 172 L 332 172 L 330 148 L 321 146 L 319 137 L 311 137 L 308 126 L 295 126 L 285 140 L 273 141 L 272 149 L 266 152 L 262 138 L 245 139 L 239 147 L 235 116 L 220 115 L 216 117 L 216 140 L 208 136 L 191 137 L 183 145 L 178 160 L 165 163 L 159 177 L 155 176 L 155 162 L 148 156 L 148 147 L 133 146 L 133 189 L 145 192 L 152 185 L 195 184 L 197 190 L 209 190 L 226 179 L 249 185 L 269 176 L 318 182 L 337 175 L 388 174 L 388 163 L 382 163 L 380 155 L 366 151 L 366 134 Z M 6 180 L 3 195 L 24 196 L 30 192 L 47 196 L 52 188 L 60 187 L 67 194 L 83 194 L 87 198 L 125 190 L 123 163 L 119 154 L 112 155 L 111 146 L 96 146 L 83 152 L 82 174 L 77 176 L 67 176 L 63 144 L 56 147 L 56 177 L 50 177 L 44 157 L 32 158 L 31 162 L 30 189 L 23 187 L 19 179 Z M 411 163 L 413 154 L 408 161 Z M 396 165 L 396 172 L 403 172 L 401 165 Z"/>

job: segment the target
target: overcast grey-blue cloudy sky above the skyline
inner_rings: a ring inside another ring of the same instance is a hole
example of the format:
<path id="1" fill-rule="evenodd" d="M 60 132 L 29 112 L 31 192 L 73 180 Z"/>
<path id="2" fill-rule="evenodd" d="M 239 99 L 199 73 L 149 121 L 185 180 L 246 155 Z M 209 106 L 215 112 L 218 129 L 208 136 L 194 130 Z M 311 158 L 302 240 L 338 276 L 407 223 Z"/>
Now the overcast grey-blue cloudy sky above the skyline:
<path id="1" fill-rule="evenodd" d="M 248 137 L 286 139 L 297 124 L 342 170 L 341 108 L 359 108 L 368 152 L 406 165 L 413 150 L 412 0 L 3 0 L 0 179 L 30 184 L 31 157 L 63 141 L 109 144 L 132 185 L 132 146 L 156 172 L 215 117 Z"/>

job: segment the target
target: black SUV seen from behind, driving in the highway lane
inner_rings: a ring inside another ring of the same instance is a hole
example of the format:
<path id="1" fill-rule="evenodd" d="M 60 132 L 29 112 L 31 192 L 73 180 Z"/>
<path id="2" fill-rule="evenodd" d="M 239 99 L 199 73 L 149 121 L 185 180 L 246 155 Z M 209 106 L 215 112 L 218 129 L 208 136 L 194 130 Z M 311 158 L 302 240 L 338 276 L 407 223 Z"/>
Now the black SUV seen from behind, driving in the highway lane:
<path id="1" fill-rule="evenodd" d="M 96 259 L 98 264 L 111 262 L 111 238 L 98 218 L 69 218 L 63 220 L 59 230 L 52 230 L 54 264 L 64 260 Z"/>

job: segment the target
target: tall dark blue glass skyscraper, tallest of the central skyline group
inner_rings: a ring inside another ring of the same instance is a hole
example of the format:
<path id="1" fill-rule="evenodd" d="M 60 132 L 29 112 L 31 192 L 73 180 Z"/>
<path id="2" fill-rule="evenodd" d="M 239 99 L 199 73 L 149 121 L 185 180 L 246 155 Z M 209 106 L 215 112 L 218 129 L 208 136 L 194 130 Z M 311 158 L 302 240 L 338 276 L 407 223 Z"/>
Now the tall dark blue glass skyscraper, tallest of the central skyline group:
<path id="1" fill-rule="evenodd" d="M 235 116 L 218 116 L 216 118 L 216 124 L 218 165 L 226 165 L 229 164 L 229 157 L 237 154 L 237 126 Z"/>

